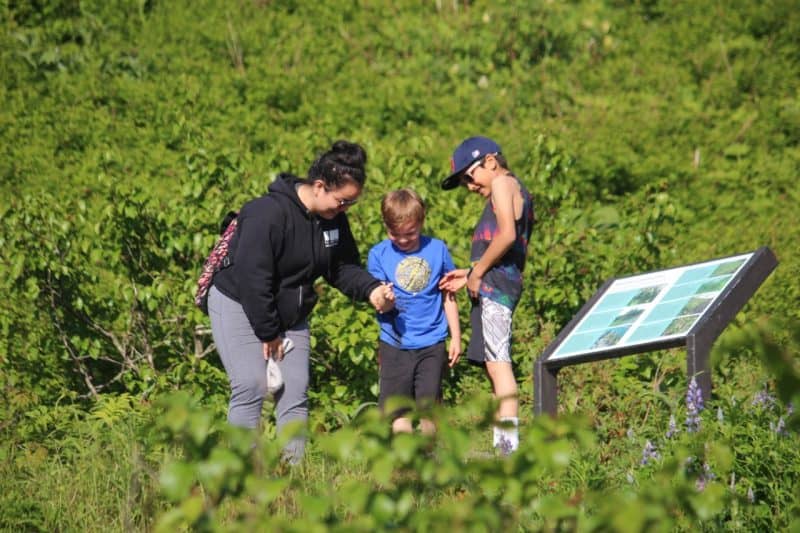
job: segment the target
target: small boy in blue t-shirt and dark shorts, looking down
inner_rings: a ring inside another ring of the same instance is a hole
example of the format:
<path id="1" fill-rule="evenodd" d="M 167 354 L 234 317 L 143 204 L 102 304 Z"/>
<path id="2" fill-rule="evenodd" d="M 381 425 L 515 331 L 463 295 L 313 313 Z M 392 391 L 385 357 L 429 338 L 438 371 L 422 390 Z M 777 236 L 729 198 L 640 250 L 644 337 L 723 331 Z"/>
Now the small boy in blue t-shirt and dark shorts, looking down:
<path id="1" fill-rule="evenodd" d="M 381 214 L 388 239 L 372 247 L 367 270 L 391 283 L 395 308 L 378 314 L 380 394 L 387 398 L 414 398 L 417 405 L 441 398 L 445 363 L 452 368 L 461 355 L 461 327 L 455 295 L 439 289 L 439 280 L 455 269 L 447 246 L 439 239 L 421 235 L 425 204 L 411 189 L 387 193 Z M 445 349 L 448 329 L 450 347 Z M 392 431 L 411 432 L 411 419 L 393 413 Z M 420 420 L 423 433 L 436 431 L 433 421 Z"/>

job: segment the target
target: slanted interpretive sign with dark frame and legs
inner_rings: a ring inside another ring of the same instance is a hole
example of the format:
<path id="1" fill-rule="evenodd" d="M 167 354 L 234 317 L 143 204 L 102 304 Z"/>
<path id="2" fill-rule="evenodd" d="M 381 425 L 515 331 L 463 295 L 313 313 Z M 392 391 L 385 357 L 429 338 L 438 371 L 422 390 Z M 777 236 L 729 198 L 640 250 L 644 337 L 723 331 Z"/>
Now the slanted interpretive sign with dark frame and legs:
<path id="1" fill-rule="evenodd" d="M 536 361 L 536 411 L 555 414 L 555 376 L 561 367 L 681 345 L 689 352 L 687 371 L 708 398 L 711 343 L 775 266 L 775 256 L 763 247 L 607 281 Z"/>

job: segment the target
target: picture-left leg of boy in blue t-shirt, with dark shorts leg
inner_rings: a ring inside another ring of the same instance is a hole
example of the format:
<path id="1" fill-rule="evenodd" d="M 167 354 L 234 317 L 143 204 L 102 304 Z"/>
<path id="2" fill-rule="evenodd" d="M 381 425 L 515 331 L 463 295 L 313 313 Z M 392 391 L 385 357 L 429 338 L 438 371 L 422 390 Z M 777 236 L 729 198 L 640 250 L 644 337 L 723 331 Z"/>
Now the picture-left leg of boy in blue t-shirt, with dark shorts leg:
<path id="1" fill-rule="evenodd" d="M 391 344 L 380 341 L 378 343 L 380 366 L 378 376 L 380 379 L 380 392 L 378 406 L 385 412 L 386 401 L 392 397 L 412 398 L 414 392 L 414 356 L 410 350 L 401 350 Z M 397 409 L 389 416 L 392 420 L 392 431 L 412 431 L 411 419 L 403 416 L 408 409 Z"/>

